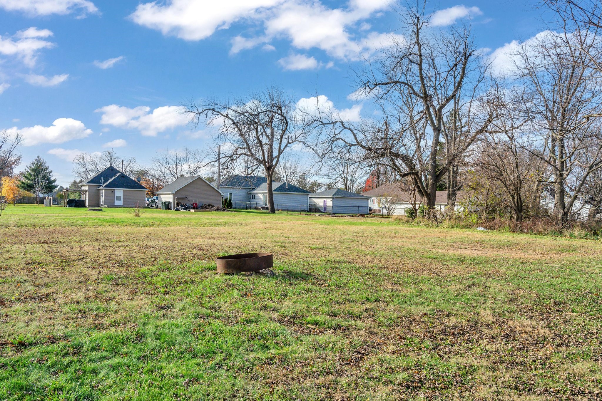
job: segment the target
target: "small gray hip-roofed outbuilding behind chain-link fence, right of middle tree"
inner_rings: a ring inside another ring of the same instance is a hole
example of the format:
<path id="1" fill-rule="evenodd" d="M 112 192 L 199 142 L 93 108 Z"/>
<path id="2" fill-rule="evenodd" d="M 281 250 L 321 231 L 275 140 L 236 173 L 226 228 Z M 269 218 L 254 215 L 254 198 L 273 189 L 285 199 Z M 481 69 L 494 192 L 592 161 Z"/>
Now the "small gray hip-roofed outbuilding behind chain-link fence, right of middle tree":
<path id="1" fill-rule="evenodd" d="M 367 215 L 370 213 L 370 198 L 344 189 L 326 189 L 309 195 L 309 210 L 322 213 Z"/>

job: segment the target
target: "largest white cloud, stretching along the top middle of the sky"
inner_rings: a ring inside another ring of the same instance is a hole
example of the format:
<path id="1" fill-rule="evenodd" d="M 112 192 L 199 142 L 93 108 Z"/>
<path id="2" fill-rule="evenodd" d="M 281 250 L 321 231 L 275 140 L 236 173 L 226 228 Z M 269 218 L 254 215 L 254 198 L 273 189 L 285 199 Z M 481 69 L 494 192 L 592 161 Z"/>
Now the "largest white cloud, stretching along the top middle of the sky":
<path id="1" fill-rule="evenodd" d="M 297 49 L 317 47 L 331 57 L 356 60 L 365 49 L 365 38 L 356 38 L 350 29 L 385 10 L 389 3 L 386 0 L 351 0 L 347 7 L 329 8 L 319 1 L 231 0 L 228 7 L 223 7 L 219 2 L 171 0 L 164 5 L 157 2 L 140 4 L 130 17 L 147 28 L 184 40 L 201 40 L 217 29 L 251 20 L 262 24 L 264 32 L 253 38 L 233 38 L 231 54 L 275 38 L 288 38 Z M 362 24 L 361 29 L 370 29 L 370 25 Z M 373 32 L 373 35 L 379 34 Z"/>

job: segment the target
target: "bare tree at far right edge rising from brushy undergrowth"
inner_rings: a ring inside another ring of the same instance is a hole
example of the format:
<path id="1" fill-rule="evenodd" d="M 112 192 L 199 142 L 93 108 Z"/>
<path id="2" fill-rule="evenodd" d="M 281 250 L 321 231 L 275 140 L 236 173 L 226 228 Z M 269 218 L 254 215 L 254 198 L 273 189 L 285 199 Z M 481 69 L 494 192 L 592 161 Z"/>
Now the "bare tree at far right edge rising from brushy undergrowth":
<path id="1" fill-rule="evenodd" d="M 575 40 L 570 32 L 542 35 L 523 44 L 517 61 L 533 115 L 528 145 L 550 168 L 559 225 L 568 221 L 589 174 L 602 167 L 600 127 L 593 124 L 602 117 L 602 71 L 588 65 L 588 51 L 573 46 Z"/>

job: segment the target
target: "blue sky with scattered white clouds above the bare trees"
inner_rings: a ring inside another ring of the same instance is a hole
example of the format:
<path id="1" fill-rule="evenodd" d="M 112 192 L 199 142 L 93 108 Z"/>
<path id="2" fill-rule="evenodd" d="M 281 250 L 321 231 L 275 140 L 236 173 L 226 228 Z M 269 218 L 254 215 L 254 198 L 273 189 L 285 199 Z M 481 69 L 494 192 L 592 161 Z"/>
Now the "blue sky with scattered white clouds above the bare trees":
<path id="1" fill-rule="evenodd" d="M 524 1 L 429 8 L 439 26 L 470 19 L 492 57 L 544 30 Z M 0 26 L 0 129 L 25 138 L 23 165 L 42 156 L 66 185 L 78 152 L 113 147 L 149 164 L 158 150 L 210 145 L 178 113 L 191 98 L 279 85 L 361 105 L 348 98 L 358 52 L 399 23 L 381 0 L 0 0 Z"/>

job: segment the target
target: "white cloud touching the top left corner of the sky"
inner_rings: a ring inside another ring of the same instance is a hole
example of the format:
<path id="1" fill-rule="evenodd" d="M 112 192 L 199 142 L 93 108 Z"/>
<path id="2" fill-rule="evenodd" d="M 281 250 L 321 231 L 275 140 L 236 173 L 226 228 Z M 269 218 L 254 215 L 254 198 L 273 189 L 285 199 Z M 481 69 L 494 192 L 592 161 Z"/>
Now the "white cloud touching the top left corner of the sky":
<path id="1" fill-rule="evenodd" d="M 0 8 L 31 16 L 64 15 L 76 10 L 84 14 L 98 11 L 94 3 L 88 0 L 0 0 Z"/>

